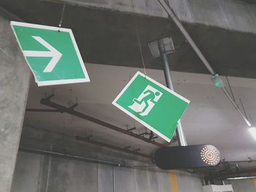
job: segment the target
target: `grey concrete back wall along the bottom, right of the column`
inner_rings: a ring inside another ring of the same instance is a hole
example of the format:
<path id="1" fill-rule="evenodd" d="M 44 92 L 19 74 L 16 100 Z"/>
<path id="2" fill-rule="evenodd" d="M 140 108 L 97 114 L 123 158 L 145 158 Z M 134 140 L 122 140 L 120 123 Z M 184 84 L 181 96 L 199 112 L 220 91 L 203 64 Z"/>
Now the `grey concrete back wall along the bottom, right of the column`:
<path id="1" fill-rule="evenodd" d="M 180 192 L 201 192 L 200 178 L 177 173 Z M 26 152 L 18 153 L 12 192 L 169 192 L 168 172 L 127 169 L 56 158 Z M 173 191 L 177 192 L 177 191 Z"/>

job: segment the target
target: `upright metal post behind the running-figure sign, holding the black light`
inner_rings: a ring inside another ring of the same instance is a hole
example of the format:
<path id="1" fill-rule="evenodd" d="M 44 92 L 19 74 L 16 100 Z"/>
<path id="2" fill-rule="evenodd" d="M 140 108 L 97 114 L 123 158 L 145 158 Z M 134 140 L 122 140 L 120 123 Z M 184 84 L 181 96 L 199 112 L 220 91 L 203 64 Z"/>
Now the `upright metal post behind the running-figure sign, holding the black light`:
<path id="1" fill-rule="evenodd" d="M 162 40 L 159 40 L 158 43 L 159 43 L 159 51 L 160 51 L 160 54 L 162 56 L 162 64 L 164 65 L 166 85 L 167 85 L 167 88 L 170 88 L 171 90 L 174 91 L 173 82 L 172 82 L 172 79 L 170 77 L 170 68 L 169 68 L 169 64 L 168 64 L 168 59 L 167 59 L 167 55 L 166 55 L 166 52 L 165 52 L 165 45 L 164 45 L 164 42 Z M 177 138 L 178 138 L 178 145 L 179 146 L 187 146 L 187 140 L 186 140 L 186 137 L 184 135 L 183 128 L 181 126 L 181 121 L 178 121 L 178 126 L 176 128 L 176 135 L 177 135 Z"/>

